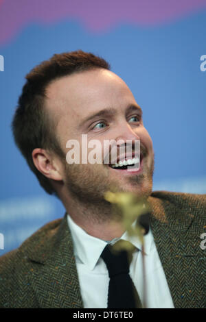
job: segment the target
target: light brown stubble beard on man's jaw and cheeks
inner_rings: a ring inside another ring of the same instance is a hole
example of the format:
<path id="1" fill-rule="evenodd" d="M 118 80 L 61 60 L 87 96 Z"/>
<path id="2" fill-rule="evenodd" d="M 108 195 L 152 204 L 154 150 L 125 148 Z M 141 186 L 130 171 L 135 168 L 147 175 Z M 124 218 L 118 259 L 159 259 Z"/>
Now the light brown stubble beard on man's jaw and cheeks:
<path id="1" fill-rule="evenodd" d="M 128 177 L 128 184 L 138 197 L 147 199 L 152 193 L 152 177 L 154 173 L 154 156 L 149 165 L 144 164 L 144 173 Z M 128 192 L 128 188 L 119 186 L 112 180 L 102 164 L 67 164 L 65 162 L 65 186 L 73 202 L 84 209 L 84 216 L 90 214 L 91 221 L 111 219 L 112 205 L 104 199 L 106 191 Z M 101 169 L 101 170 L 100 170 Z M 119 170 L 121 171 L 121 170 Z M 92 218 L 91 218 L 92 214 Z"/>

